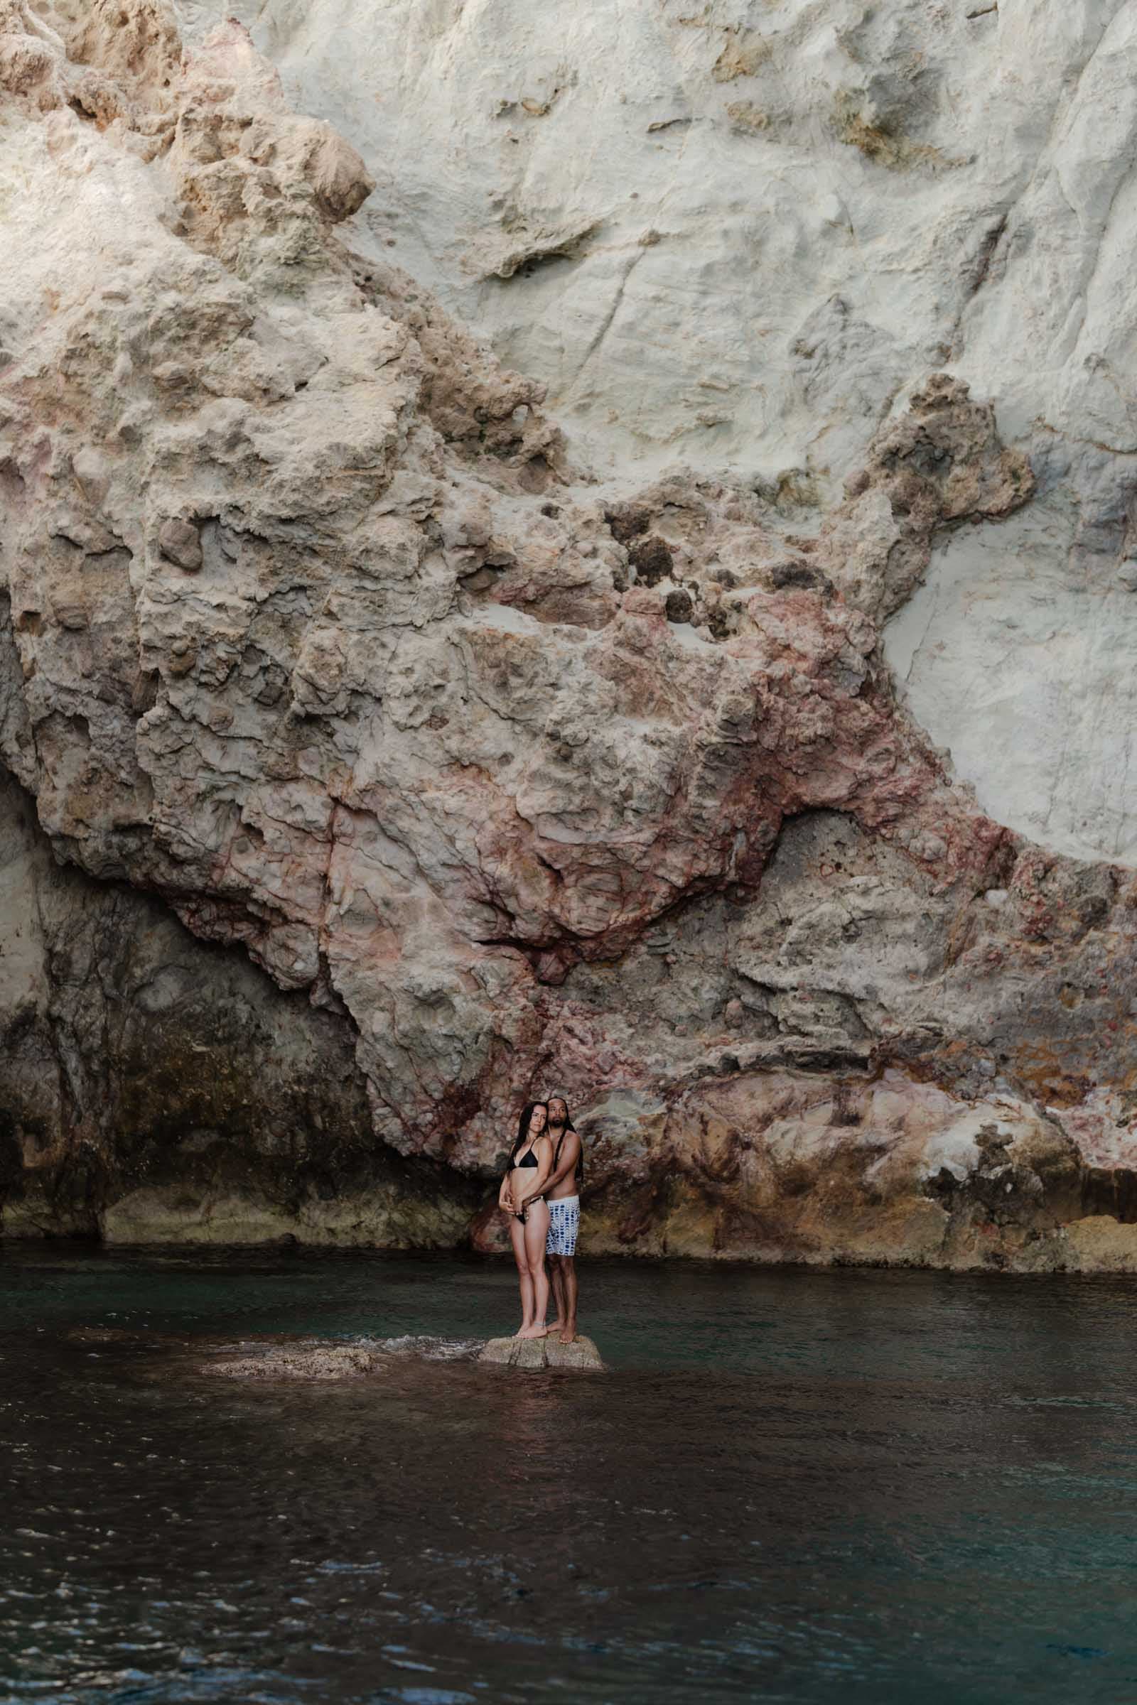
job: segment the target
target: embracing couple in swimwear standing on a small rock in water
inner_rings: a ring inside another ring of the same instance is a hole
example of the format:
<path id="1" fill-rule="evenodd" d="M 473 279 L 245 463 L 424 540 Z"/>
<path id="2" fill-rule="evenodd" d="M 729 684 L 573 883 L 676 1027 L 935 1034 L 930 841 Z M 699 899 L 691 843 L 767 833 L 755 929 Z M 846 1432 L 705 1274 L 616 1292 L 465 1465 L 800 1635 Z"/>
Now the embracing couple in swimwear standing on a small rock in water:
<path id="1" fill-rule="evenodd" d="M 561 1344 L 576 1338 L 576 1229 L 583 1178 L 580 1137 L 568 1103 L 554 1095 L 522 1108 L 517 1142 L 498 1192 L 498 1207 L 510 1219 L 510 1240 L 522 1280 L 518 1338 L 557 1333 Z M 545 1325 L 549 1274 L 557 1318 Z"/>

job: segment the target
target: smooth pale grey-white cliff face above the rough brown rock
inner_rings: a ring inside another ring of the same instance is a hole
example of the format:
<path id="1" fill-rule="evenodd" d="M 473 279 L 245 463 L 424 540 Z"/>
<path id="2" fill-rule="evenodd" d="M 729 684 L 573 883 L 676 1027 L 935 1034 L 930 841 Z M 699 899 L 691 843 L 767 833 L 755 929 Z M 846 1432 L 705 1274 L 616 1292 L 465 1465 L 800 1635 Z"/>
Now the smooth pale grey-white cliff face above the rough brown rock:
<path id="1" fill-rule="evenodd" d="M 179 10 L 198 38 L 234 5 L 377 179 L 351 244 L 622 486 L 678 457 L 810 512 L 931 368 L 992 397 L 1042 501 L 941 540 L 888 656 L 985 812 L 1134 863 L 1128 5 Z"/>

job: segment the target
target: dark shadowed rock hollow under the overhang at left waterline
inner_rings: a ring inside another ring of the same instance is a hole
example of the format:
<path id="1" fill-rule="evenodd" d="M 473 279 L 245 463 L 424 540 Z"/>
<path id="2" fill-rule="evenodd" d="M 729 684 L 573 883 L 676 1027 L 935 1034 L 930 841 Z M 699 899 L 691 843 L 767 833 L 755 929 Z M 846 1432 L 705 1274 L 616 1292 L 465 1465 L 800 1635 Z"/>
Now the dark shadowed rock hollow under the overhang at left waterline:
<path id="1" fill-rule="evenodd" d="M 469 1180 L 375 1144 L 344 1020 L 58 866 L 0 783 L 9 1236 L 450 1246 Z"/>

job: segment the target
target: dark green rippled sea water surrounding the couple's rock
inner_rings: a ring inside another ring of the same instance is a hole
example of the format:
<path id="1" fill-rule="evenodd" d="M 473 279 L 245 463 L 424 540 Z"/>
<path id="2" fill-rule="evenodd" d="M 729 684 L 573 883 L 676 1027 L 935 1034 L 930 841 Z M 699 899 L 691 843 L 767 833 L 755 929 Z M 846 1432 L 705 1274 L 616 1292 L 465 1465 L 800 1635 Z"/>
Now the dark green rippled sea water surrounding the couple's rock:
<path id="1" fill-rule="evenodd" d="M 527 1376 L 464 1359 L 499 1263 L 9 1246 L 0 1700 L 1135 1700 L 1135 1299 L 602 1262 L 612 1371 Z M 77 1326 L 436 1342 L 252 1384 Z"/>

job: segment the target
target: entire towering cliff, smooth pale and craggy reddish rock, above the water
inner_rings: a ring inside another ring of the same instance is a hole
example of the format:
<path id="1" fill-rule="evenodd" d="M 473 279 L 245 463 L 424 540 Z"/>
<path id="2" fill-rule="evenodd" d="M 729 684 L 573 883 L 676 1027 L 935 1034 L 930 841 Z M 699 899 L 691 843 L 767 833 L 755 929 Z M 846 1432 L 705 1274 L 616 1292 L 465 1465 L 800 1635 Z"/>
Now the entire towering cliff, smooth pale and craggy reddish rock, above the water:
<path id="1" fill-rule="evenodd" d="M 1127 17 L 5 0 L 14 892 L 251 955 L 389 1168 L 22 1071 L 9 1224 L 453 1240 L 554 1076 L 593 1246 L 1137 1258 Z"/>

